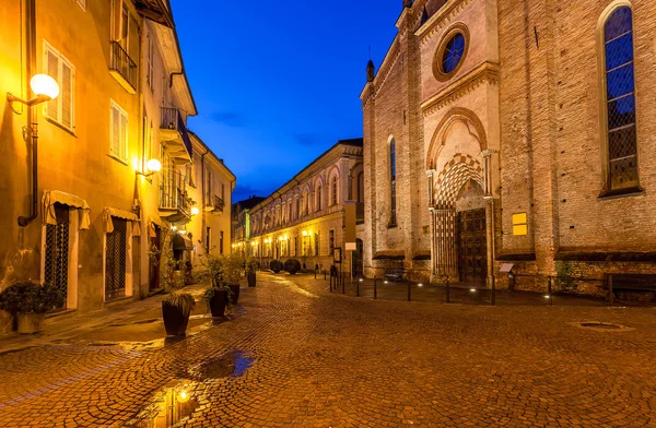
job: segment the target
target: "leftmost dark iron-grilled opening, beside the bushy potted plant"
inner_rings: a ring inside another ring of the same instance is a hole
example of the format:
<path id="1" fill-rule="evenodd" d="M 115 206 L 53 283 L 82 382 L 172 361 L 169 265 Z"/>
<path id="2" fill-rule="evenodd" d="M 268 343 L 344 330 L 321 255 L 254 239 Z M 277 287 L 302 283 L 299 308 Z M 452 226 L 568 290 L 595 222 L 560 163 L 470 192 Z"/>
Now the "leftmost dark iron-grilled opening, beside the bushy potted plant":
<path id="1" fill-rule="evenodd" d="M 68 294 L 69 209 L 55 204 L 56 225 L 46 225 L 44 282 Z"/>

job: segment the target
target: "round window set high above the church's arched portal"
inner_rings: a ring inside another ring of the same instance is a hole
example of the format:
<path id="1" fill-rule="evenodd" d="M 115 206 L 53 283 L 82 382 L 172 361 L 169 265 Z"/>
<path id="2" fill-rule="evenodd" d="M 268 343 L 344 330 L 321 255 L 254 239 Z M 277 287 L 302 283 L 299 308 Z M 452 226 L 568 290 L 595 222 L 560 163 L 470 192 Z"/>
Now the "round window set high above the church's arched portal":
<path id="1" fill-rule="evenodd" d="M 462 24 L 456 24 L 445 33 L 433 60 L 435 79 L 445 82 L 458 72 L 467 55 L 468 41 L 469 32 Z"/>

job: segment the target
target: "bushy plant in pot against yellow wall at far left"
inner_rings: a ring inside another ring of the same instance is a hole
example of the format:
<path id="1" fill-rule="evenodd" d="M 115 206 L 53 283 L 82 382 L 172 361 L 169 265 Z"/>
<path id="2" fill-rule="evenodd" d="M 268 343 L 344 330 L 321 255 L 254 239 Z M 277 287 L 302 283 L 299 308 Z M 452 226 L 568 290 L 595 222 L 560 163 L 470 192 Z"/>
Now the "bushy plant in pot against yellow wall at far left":
<path id="1" fill-rule="evenodd" d="M 17 283 L 0 294 L 0 309 L 15 316 L 19 333 L 43 330 L 46 312 L 63 306 L 63 292 L 50 284 Z"/>

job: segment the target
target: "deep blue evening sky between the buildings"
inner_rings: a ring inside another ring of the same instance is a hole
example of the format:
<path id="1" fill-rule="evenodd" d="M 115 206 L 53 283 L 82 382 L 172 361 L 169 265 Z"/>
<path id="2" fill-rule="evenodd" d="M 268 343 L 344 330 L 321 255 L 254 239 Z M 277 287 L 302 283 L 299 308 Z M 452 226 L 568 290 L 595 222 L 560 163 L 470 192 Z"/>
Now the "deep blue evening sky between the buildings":
<path id="1" fill-rule="evenodd" d="M 199 115 L 189 129 L 267 197 L 340 139 L 362 136 L 360 92 L 401 0 L 172 0 Z"/>

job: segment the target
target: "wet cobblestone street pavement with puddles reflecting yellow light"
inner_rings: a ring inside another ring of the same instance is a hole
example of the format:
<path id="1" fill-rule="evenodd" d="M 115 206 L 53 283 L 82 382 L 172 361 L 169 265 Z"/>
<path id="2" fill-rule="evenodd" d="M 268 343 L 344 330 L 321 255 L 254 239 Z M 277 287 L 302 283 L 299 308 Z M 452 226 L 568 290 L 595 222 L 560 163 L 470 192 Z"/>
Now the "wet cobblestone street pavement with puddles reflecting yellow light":
<path id="1" fill-rule="evenodd" d="M 654 308 L 445 306 L 326 288 L 260 274 L 242 289 L 243 316 L 184 341 L 0 355 L 0 426 L 656 427 Z"/>

